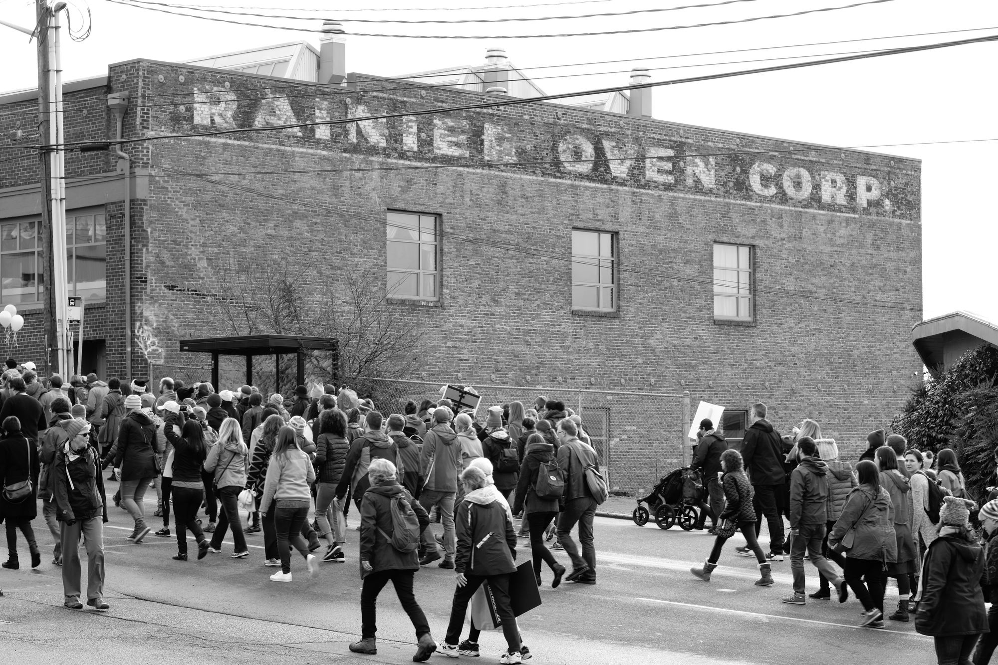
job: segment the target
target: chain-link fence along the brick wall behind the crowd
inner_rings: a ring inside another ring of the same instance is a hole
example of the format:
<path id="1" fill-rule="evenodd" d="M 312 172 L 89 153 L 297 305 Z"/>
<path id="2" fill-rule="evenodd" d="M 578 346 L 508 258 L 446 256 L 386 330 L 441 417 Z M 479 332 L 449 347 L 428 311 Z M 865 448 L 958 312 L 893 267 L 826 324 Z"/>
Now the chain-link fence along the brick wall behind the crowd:
<path id="1" fill-rule="evenodd" d="M 423 399 L 438 401 L 440 388 L 447 383 L 468 385 L 469 381 L 364 378 L 353 381 L 351 386 L 361 397 L 369 396 L 375 408 L 387 415 L 402 413 L 409 399 L 417 405 Z M 593 441 L 612 489 L 629 493 L 650 489 L 665 473 L 689 463 L 689 393 L 475 382 L 470 382 L 470 386 L 482 397 L 475 414 L 481 424 L 485 422 L 488 407 L 494 404 L 518 400 L 529 409 L 539 395 L 565 402 L 566 407 L 582 417 L 583 429 Z"/>

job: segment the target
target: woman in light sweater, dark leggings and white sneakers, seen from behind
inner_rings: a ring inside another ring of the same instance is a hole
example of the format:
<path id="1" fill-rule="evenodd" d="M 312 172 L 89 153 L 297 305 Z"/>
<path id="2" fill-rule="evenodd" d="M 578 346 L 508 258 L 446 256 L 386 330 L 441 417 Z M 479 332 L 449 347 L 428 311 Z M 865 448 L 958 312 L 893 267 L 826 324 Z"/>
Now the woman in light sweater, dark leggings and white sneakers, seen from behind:
<path id="1" fill-rule="evenodd" d="M 301 527 L 307 521 L 311 507 L 310 486 L 315 481 L 315 467 L 299 445 L 294 429 L 282 426 L 266 467 L 259 513 L 266 519 L 273 511 L 280 554 L 280 570 L 270 575 L 271 582 L 291 581 L 291 545 L 304 557 L 308 573 L 312 577 L 318 575 L 318 559 L 309 553 L 308 541 L 301 536 Z"/>

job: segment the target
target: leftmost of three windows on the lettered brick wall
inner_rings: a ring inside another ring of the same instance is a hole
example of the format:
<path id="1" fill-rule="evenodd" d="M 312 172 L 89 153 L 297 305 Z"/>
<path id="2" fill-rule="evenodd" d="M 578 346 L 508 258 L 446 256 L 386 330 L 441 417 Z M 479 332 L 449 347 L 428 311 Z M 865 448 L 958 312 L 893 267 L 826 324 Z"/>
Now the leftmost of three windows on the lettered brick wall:
<path id="1" fill-rule="evenodd" d="M 388 212 L 385 295 L 412 301 L 440 298 L 440 218 Z"/>

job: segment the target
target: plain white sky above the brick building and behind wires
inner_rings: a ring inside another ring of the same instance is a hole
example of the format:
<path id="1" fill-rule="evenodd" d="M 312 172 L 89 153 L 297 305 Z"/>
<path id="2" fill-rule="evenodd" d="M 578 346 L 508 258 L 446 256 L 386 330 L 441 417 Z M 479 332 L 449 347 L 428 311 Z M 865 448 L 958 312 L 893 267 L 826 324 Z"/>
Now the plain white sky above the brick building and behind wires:
<path id="1" fill-rule="evenodd" d="M 288 8 L 469 7 L 515 5 L 553 0 L 372 0 L 335 3 L 316 0 L 165 0 L 192 4 Z M 463 19 L 577 15 L 675 7 L 718 0 L 607 0 L 549 7 L 473 11 L 340 12 L 299 14 L 320 18 Z M 348 33 L 509 35 L 588 32 L 688 25 L 841 6 L 858 0 L 749 0 L 715 8 L 688 9 L 623 17 L 494 24 L 400 25 L 345 23 Z M 85 0 L 75 0 L 86 7 Z M 73 2 L 71 2 L 73 4 Z M 318 35 L 253 28 L 90 0 L 93 32 L 83 42 L 65 43 L 64 80 L 107 72 L 107 65 L 134 58 L 181 61 L 267 44 L 309 40 Z M 245 10 L 253 11 L 253 10 Z M 282 14 L 282 11 L 259 13 Z M 219 15 L 225 17 L 225 15 Z M 318 29 L 320 20 L 273 21 Z M 34 2 L 0 0 L 0 19 L 29 26 Z M 883 37 L 910 33 L 994 28 L 990 31 L 935 35 L 856 44 L 833 44 L 779 51 L 735 53 L 654 60 L 656 56 L 725 51 Z M 625 63 L 534 70 L 537 76 L 630 71 L 783 55 L 896 48 L 998 34 L 998 2 L 992 0 L 887 0 L 841 11 L 687 30 L 538 39 L 392 39 L 348 36 L 347 71 L 393 76 L 459 64 L 479 64 L 486 48 L 501 46 L 518 67 L 629 59 Z M 676 87 L 657 88 L 653 115 L 662 120 L 716 127 L 784 139 L 839 146 L 998 139 L 994 127 L 993 75 L 998 42 L 903 56 L 877 58 L 820 68 L 753 75 Z M 27 36 L 0 26 L 0 90 L 36 85 L 34 44 Z M 743 69 L 750 63 L 652 71 L 653 80 Z M 548 93 L 586 90 L 628 82 L 627 73 L 541 79 Z M 989 204 L 995 184 L 998 141 L 938 146 L 873 148 L 922 160 L 922 266 L 924 316 L 954 310 L 974 312 L 998 323 L 998 297 L 991 266 L 998 248 L 996 213 Z M 882 248 L 884 254 L 890 247 Z"/>

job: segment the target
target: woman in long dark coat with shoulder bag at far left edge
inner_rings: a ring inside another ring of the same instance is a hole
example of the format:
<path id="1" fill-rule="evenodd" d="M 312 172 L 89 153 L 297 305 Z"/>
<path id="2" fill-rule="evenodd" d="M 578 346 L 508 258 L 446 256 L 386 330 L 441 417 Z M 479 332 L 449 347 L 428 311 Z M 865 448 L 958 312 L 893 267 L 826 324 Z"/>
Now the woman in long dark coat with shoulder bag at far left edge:
<path id="1" fill-rule="evenodd" d="M 31 520 L 38 516 L 38 448 L 21 434 L 21 421 L 16 416 L 7 416 L 3 429 L 3 437 L 0 438 L 0 487 L 29 480 L 31 491 L 18 501 L 8 501 L 5 492 L 0 491 L 0 517 L 7 521 L 7 551 L 10 555 L 2 565 L 12 570 L 20 567 L 17 530 L 21 529 L 31 552 L 31 567 L 37 568 L 42 563 L 42 554 L 35 541 Z"/>

